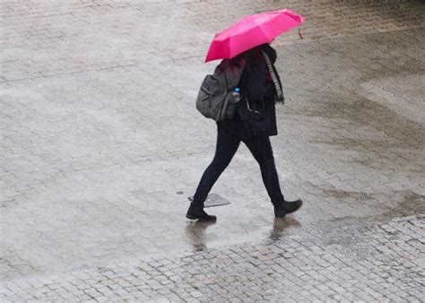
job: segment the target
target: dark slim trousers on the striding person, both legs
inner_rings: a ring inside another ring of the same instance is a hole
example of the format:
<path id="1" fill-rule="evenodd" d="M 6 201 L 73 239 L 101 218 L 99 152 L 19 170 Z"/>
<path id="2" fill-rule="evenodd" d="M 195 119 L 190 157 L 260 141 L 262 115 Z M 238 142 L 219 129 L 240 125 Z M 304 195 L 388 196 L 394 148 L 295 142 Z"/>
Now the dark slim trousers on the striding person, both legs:
<path id="1" fill-rule="evenodd" d="M 240 142 L 247 145 L 247 148 L 260 165 L 265 189 L 272 203 L 282 203 L 283 195 L 274 165 L 272 144 L 269 136 L 267 134 L 244 134 L 244 132 L 238 131 L 238 127 L 233 120 L 218 122 L 217 132 L 215 155 L 199 182 L 194 196 L 194 203 L 204 206 L 208 193 L 238 151 Z"/>

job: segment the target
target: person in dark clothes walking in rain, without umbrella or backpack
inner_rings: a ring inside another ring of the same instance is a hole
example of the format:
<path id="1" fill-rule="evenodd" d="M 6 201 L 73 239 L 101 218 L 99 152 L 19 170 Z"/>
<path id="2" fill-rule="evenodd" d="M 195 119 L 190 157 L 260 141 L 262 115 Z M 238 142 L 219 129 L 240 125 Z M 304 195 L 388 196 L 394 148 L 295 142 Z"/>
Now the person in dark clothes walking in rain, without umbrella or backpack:
<path id="1" fill-rule="evenodd" d="M 241 59 L 245 60 L 237 85 L 241 99 L 233 117 L 217 121 L 215 155 L 204 170 L 186 218 L 216 220 L 215 216 L 204 212 L 204 201 L 221 173 L 230 164 L 241 142 L 247 145 L 260 166 L 275 216 L 284 217 L 301 207 L 301 200 L 286 201 L 282 195 L 269 138 L 277 135 L 275 104 L 284 101 L 282 83 L 273 65 L 276 57 L 276 51 L 266 43 L 248 49 L 230 60 L 233 64 L 238 64 Z"/>

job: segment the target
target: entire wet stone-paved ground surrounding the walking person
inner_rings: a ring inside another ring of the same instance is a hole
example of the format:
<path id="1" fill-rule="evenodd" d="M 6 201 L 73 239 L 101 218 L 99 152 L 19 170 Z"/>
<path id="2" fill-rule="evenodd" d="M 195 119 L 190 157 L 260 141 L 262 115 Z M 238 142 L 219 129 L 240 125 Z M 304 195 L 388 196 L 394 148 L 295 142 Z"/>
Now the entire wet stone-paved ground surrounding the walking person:
<path id="1" fill-rule="evenodd" d="M 423 301 L 420 1 L 2 1 L 0 301 Z M 289 7 L 274 220 L 245 146 L 186 221 L 215 126 L 194 106 L 213 33 Z M 183 194 L 183 195 L 180 195 Z"/>

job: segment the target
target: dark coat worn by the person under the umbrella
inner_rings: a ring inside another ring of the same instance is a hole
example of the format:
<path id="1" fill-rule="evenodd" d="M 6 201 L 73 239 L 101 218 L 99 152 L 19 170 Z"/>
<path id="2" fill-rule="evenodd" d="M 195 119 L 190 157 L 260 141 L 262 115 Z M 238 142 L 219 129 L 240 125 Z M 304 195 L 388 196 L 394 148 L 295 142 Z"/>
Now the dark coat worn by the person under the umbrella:
<path id="1" fill-rule="evenodd" d="M 277 98 L 274 83 L 267 69 L 265 58 L 261 52 L 262 50 L 269 56 L 272 63 L 276 61 L 276 51 L 268 44 L 252 48 L 239 55 L 246 58 L 246 65 L 238 87 L 240 88 L 241 97 L 248 100 L 250 108 L 260 110 L 264 115 L 265 133 L 267 135 L 276 135 L 275 100 Z M 241 109 L 245 109 L 241 107 L 244 106 L 246 107 L 246 103 L 240 102 L 237 114 L 235 115 L 235 118 L 239 120 L 239 124 L 242 122 L 240 121 Z M 249 128 L 247 124 L 239 127 L 247 133 L 253 133 L 252 129 L 247 129 Z"/>

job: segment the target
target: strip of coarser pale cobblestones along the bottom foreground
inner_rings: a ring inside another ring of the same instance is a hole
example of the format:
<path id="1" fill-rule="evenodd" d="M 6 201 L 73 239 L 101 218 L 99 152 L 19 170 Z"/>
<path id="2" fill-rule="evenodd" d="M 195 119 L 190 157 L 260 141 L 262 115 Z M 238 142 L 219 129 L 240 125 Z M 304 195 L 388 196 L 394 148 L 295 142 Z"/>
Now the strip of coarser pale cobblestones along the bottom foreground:
<path id="1" fill-rule="evenodd" d="M 266 244 L 17 279 L 2 293 L 18 301 L 423 301 L 423 219 L 336 224 L 349 235 L 343 241 L 339 232 L 276 241 L 285 229 L 276 220 Z"/>

